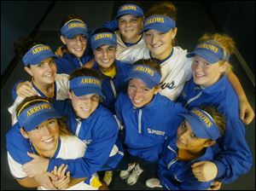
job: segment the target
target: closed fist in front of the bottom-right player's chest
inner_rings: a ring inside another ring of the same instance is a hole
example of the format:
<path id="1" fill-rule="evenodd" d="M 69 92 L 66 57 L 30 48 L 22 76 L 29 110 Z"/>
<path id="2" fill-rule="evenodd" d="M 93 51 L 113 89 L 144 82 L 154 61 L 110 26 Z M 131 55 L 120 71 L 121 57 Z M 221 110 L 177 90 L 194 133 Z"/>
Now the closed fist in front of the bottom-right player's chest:
<path id="1" fill-rule="evenodd" d="M 208 182 L 218 174 L 217 165 L 210 161 L 200 161 L 191 165 L 193 174 L 200 182 Z"/>

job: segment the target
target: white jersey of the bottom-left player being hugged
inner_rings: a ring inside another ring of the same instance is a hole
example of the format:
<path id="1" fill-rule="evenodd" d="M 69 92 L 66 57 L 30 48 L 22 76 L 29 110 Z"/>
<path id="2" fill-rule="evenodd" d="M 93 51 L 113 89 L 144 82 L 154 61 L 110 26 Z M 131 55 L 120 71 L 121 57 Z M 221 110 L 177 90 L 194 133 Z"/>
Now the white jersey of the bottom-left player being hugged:
<path id="1" fill-rule="evenodd" d="M 60 148 L 56 150 L 55 158 L 61 159 L 77 159 L 84 156 L 84 152 L 86 149 L 86 145 L 82 142 L 77 136 L 60 136 L 61 140 L 59 144 L 61 144 Z M 11 154 L 8 152 L 8 163 L 9 169 L 13 177 L 16 179 L 27 177 L 26 172 L 24 172 L 21 168 L 21 164 L 19 161 L 15 161 L 12 158 Z M 97 174 L 94 174 L 92 178 L 96 178 Z M 38 189 L 46 189 L 42 186 L 39 186 Z M 84 182 L 79 182 L 73 185 L 70 188 L 72 190 L 96 190 L 97 188 L 92 187 Z"/>

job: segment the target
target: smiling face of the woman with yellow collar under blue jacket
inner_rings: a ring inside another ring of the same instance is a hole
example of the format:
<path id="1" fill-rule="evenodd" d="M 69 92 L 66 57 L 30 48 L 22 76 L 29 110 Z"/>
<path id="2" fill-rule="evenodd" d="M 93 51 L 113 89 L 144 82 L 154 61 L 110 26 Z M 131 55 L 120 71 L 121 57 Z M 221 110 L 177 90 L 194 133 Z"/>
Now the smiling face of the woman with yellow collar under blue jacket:
<path id="1" fill-rule="evenodd" d="M 115 48 L 110 45 L 102 45 L 93 51 L 100 69 L 106 72 L 112 69 L 115 61 L 115 52 Z"/>

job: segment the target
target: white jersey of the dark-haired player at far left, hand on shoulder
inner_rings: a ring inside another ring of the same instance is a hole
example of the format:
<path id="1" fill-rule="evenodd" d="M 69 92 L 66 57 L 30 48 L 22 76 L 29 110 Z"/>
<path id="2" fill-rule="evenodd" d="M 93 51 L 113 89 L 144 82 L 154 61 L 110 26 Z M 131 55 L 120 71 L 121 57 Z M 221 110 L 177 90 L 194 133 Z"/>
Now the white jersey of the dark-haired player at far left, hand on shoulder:
<path id="1" fill-rule="evenodd" d="M 68 96 L 68 87 L 69 87 L 69 75 L 65 73 L 56 74 L 55 76 L 55 96 L 53 99 L 55 100 L 66 100 Z M 33 87 L 33 90 L 36 88 Z M 38 96 L 46 97 L 42 92 L 36 90 L 38 92 Z M 17 122 L 16 118 L 16 108 L 20 105 L 20 103 L 24 100 L 23 97 L 17 96 L 14 104 L 8 108 L 9 113 L 12 115 L 12 125 Z"/>

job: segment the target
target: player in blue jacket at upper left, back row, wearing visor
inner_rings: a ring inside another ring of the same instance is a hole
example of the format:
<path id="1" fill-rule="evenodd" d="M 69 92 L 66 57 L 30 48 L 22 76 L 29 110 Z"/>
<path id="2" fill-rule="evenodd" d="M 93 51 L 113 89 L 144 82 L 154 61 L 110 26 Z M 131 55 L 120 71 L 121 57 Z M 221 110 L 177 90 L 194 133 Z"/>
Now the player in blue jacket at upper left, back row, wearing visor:
<path id="1" fill-rule="evenodd" d="M 91 59 L 88 47 L 88 26 L 84 20 L 75 15 L 67 15 L 61 21 L 61 42 L 63 55 L 55 60 L 58 73 L 70 74 L 79 67 L 91 67 L 87 62 Z M 86 65 L 85 65 L 86 64 Z"/>

